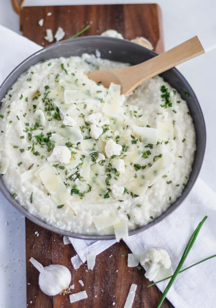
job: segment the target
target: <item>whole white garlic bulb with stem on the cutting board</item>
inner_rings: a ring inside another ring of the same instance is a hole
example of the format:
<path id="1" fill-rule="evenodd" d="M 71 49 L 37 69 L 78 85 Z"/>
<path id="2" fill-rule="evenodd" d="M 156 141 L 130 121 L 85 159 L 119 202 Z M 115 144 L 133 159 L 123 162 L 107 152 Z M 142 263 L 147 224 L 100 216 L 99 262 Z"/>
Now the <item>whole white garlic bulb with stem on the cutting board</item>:
<path id="1" fill-rule="evenodd" d="M 69 287 L 71 274 L 66 266 L 50 264 L 49 266 L 43 267 L 33 257 L 29 261 L 40 272 L 39 286 L 41 291 L 46 295 L 53 296 L 59 294 Z"/>

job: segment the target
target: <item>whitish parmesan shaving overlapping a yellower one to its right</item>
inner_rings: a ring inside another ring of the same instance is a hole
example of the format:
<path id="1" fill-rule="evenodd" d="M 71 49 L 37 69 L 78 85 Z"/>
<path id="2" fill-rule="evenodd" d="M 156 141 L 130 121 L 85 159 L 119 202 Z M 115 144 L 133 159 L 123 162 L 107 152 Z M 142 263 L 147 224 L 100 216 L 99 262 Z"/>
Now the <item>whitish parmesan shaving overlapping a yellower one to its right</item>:
<path id="1" fill-rule="evenodd" d="M 157 144 L 158 141 L 158 129 L 149 127 L 140 127 L 134 125 L 134 135 L 141 138 L 142 142 L 149 144 Z"/>

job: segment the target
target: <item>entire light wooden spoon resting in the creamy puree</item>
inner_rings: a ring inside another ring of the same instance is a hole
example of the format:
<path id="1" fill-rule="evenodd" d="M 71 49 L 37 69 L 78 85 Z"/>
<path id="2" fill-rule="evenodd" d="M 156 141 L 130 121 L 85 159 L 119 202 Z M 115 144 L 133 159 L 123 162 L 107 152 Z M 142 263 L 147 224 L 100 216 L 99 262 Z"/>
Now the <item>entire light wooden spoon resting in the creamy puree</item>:
<path id="1" fill-rule="evenodd" d="M 198 37 L 194 36 L 192 39 L 138 65 L 93 71 L 88 73 L 87 76 L 96 83 L 102 82 L 106 88 L 109 88 L 111 82 L 120 84 L 122 94 L 127 96 L 147 79 L 204 52 L 205 50 Z"/>

